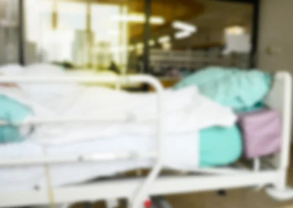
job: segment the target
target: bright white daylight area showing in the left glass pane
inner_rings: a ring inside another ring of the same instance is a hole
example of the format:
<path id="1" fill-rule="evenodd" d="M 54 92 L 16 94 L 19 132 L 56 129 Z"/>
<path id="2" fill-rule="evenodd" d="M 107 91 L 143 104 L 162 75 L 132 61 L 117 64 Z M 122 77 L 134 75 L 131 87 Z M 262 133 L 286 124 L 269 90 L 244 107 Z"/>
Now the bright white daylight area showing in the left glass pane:
<path id="1" fill-rule="evenodd" d="M 60 0 L 55 6 L 53 0 L 25 2 L 26 38 L 36 44 L 39 61 L 98 70 L 115 62 L 126 70 L 128 22 L 113 21 L 115 16 L 127 16 L 126 5 Z"/>

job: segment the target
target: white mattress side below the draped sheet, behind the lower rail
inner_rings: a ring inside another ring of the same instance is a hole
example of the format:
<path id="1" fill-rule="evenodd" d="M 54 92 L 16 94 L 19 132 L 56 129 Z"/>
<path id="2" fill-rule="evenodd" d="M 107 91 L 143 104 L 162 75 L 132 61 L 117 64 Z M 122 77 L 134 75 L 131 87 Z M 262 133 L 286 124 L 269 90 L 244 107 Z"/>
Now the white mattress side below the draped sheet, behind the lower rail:
<path id="1" fill-rule="evenodd" d="M 188 170 L 198 166 L 197 135 L 172 135 L 167 137 L 165 167 Z M 91 153 L 125 153 L 128 151 L 152 152 L 156 149 L 153 137 L 120 136 L 115 138 L 86 140 L 59 146 L 41 146 L 33 141 L 0 145 L 0 158 L 38 157 L 47 155 L 79 155 Z M 111 176 L 127 170 L 150 167 L 152 159 L 120 160 L 113 162 L 60 164 L 51 166 L 53 186 L 80 183 L 101 176 Z M 43 166 L 0 168 L 0 191 L 15 189 L 45 188 L 46 177 Z"/>

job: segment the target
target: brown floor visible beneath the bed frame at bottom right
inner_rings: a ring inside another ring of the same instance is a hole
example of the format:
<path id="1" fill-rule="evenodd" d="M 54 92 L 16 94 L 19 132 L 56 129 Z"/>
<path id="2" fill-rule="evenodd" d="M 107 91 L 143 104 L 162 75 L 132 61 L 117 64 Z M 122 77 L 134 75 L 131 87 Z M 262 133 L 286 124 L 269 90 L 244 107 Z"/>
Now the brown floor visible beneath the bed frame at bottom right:
<path id="1" fill-rule="evenodd" d="M 292 154 L 293 161 L 293 154 Z M 293 163 L 289 169 L 288 184 L 293 187 Z M 215 191 L 167 196 L 173 208 L 293 208 L 293 200 L 277 202 L 264 190 L 231 189 L 226 196 L 218 196 Z M 77 204 L 74 208 L 84 208 Z M 123 208 L 124 206 L 121 206 Z M 93 208 L 105 208 L 104 202 L 98 202 Z"/>

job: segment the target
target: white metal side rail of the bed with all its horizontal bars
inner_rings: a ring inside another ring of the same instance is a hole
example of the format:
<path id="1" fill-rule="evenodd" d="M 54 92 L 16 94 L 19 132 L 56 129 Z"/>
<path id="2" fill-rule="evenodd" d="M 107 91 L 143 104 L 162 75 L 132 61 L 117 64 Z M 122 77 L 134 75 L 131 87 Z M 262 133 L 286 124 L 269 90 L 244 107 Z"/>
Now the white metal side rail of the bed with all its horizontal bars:
<path id="1" fill-rule="evenodd" d="M 164 156 L 164 97 L 163 97 L 163 86 L 162 84 L 154 77 L 149 75 L 133 75 L 133 76 L 66 76 L 66 77 L 9 77 L 3 76 L 0 77 L 0 83 L 100 83 L 100 84 L 126 84 L 126 83 L 147 83 L 154 87 L 158 93 L 157 106 L 158 106 L 158 117 L 157 117 L 157 152 L 151 152 L 148 154 L 136 154 L 136 153 L 126 153 L 126 154 L 94 154 L 87 157 L 74 157 L 74 156 L 64 156 L 61 158 L 20 158 L 12 160 L 0 160 L 0 167 L 6 166 L 29 166 L 36 164 L 55 164 L 55 163 L 64 163 L 64 162 L 83 162 L 83 161 L 106 161 L 106 160 L 117 160 L 117 159 L 136 159 L 136 158 L 156 158 L 156 163 L 152 167 L 150 173 L 144 180 L 143 184 L 134 191 L 133 197 L 130 198 L 130 207 L 139 208 L 143 205 L 144 199 L 146 199 L 147 191 L 149 190 L 151 184 L 158 177 L 162 166 L 163 166 L 163 156 Z M 41 119 L 31 119 L 28 122 L 16 123 L 9 125 L 33 125 L 33 124 L 43 124 L 43 123 L 52 123 L 52 122 L 81 122 L 81 121 L 104 121 L 106 118 L 41 118 Z M 127 118 L 121 118 L 121 121 L 127 121 Z M 107 119 L 109 121 L 109 119 Z M 112 120 L 113 121 L 113 120 Z M 5 123 L 1 122 L 1 125 Z M 48 166 L 47 166 L 48 167 Z M 47 177 L 47 180 L 50 179 L 50 176 Z M 49 182 L 48 182 L 49 183 Z M 49 191 L 50 192 L 50 191 Z M 53 197 L 53 190 L 51 190 L 51 197 Z"/>

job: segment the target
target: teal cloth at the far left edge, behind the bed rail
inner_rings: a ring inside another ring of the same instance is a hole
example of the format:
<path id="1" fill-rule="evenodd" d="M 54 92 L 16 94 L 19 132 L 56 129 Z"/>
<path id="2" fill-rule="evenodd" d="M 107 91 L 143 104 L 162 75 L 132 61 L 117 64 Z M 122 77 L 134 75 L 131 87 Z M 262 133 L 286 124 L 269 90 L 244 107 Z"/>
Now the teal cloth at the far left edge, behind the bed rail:
<path id="1" fill-rule="evenodd" d="M 0 106 L 0 120 L 7 122 L 21 122 L 32 115 L 32 110 L 28 106 L 4 95 L 0 95 Z M 25 135 L 21 135 L 18 127 L 0 126 L 0 143 L 20 142 L 24 138 Z"/>

